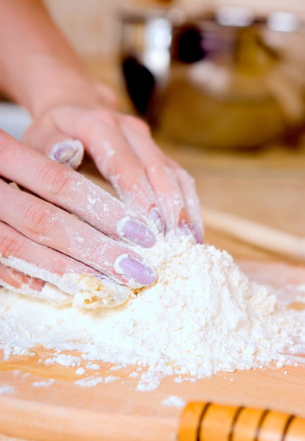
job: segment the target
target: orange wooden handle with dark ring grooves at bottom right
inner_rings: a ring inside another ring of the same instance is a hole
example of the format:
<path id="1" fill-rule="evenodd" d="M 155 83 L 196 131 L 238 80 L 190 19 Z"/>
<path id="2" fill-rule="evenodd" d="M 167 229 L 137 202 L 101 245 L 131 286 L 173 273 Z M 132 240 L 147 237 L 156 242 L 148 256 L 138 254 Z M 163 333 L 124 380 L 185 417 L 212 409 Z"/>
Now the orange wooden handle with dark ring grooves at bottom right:
<path id="1" fill-rule="evenodd" d="M 268 409 L 189 403 L 179 441 L 305 441 L 305 418 Z"/>

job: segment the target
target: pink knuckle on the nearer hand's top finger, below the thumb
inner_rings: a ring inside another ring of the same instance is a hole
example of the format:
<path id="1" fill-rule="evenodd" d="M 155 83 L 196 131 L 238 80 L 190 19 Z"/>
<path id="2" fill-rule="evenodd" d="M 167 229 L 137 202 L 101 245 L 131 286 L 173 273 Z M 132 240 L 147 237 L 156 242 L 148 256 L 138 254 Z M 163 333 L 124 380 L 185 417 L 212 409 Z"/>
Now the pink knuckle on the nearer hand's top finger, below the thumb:
<path id="1" fill-rule="evenodd" d="M 66 167 L 53 161 L 46 164 L 40 171 L 42 187 L 52 195 L 63 194 L 68 184 L 69 173 Z"/>

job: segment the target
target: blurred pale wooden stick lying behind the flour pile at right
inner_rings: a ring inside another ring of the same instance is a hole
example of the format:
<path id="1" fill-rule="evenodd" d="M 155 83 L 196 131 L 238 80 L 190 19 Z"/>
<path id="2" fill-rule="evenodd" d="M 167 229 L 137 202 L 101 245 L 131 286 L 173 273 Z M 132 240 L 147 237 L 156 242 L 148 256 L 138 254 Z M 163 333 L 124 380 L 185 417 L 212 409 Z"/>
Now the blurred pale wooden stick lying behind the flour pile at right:
<path id="1" fill-rule="evenodd" d="M 203 209 L 203 220 L 212 229 L 245 243 L 305 262 L 305 237 L 209 208 Z"/>

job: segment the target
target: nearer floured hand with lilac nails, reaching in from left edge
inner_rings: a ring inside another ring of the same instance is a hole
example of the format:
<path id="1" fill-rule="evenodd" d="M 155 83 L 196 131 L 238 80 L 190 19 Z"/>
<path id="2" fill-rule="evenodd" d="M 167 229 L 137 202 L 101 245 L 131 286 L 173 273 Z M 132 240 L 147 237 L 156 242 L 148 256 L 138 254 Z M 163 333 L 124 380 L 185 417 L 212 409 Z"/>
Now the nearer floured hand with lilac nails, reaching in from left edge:
<path id="1" fill-rule="evenodd" d="M 64 274 L 103 273 L 131 288 L 156 280 L 128 244 L 151 247 L 145 218 L 80 173 L 0 131 L 0 256 Z M 76 215 L 76 216 L 73 216 Z"/>

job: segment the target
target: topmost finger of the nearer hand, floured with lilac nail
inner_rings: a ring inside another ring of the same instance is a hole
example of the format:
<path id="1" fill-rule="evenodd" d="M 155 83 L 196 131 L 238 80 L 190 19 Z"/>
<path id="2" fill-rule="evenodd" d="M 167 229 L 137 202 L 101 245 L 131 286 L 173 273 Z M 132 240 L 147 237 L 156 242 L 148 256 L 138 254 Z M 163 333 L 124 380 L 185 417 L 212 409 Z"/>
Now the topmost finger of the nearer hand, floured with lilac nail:
<path id="1" fill-rule="evenodd" d="M 26 167 L 25 167 L 26 164 Z M 107 236 L 151 247 L 155 235 L 145 220 L 79 173 L 0 133 L 0 175 L 76 214 Z"/>

